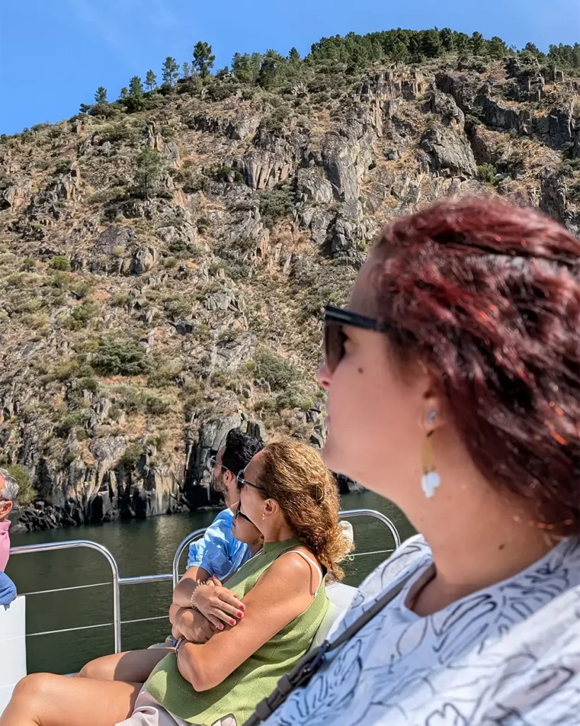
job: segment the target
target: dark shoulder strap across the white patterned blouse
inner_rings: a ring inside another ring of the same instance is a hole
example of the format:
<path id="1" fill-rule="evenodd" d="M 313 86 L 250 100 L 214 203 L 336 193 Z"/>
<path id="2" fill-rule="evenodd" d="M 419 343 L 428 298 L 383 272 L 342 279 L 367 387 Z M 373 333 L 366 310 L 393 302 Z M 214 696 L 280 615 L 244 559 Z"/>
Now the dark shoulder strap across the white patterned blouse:
<path id="1" fill-rule="evenodd" d="M 268 698 L 264 698 L 256 706 L 256 710 L 249 717 L 244 726 L 258 726 L 262 721 L 268 719 L 279 706 L 282 705 L 286 698 L 297 688 L 302 688 L 310 681 L 312 676 L 318 671 L 320 666 L 323 664 L 326 653 L 330 653 L 331 650 L 340 648 L 341 645 L 347 643 L 353 636 L 363 629 L 367 623 L 381 612 L 381 610 L 393 600 L 399 592 L 405 587 L 407 582 L 412 575 L 407 575 L 402 580 L 397 582 L 390 590 L 387 590 L 382 597 L 379 597 L 374 605 L 371 605 L 359 618 L 352 622 L 349 627 L 344 629 L 343 632 L 329 643 L 325 640 L 322 645 L 315 650 L 311 650 L 302 656 L 294 668 L 289 672 L 288 675 L 281 677 L 278 681 L 278 685 L 270 693 Z"/>

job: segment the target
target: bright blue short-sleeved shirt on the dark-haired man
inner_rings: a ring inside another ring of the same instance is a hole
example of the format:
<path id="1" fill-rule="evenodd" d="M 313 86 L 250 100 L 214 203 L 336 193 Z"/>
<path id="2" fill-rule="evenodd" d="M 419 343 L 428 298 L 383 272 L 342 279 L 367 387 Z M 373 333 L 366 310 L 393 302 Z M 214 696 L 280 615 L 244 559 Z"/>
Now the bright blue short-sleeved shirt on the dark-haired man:
<path id="1" fill-rule="evenodd" d="M 223 580 L 252 556 L 247 544 L 231 534 L 233 512 L 225 509 L 206 529 L 202 539 L 191 542 L 187 568 L 202 567 Z"/>

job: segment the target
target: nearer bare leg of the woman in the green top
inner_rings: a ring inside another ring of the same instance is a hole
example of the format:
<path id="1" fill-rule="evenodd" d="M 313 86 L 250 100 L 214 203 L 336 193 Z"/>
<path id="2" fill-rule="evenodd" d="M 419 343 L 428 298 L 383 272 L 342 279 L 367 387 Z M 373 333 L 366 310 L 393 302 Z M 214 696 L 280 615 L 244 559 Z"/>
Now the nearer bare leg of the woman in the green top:
<path id="1" fill-rule="evenodd" d="M 113 726 L 133 713 L 141 683 L 34 673 L 22 678 L 0 726 Z"/>

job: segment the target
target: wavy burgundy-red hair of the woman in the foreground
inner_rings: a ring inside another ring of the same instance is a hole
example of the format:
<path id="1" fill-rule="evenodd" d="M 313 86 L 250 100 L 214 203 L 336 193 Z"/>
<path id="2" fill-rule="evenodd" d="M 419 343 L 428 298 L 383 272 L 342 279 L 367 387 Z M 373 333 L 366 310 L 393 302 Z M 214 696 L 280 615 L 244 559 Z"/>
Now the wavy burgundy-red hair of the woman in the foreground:
<path id="1" fill-rule="evenodd" d="M 386 227 L 378 317 L 420 357 L 497 489 L 580 533 L 580 241 L 532 209 L 446 200 Z"/>

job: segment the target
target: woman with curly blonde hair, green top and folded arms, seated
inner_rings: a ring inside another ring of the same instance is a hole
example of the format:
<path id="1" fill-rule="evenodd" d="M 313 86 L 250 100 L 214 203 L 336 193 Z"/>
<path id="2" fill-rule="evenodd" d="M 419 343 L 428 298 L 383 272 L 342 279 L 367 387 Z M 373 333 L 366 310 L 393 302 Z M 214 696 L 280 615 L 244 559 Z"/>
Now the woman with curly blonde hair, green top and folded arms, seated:
<path id="1" fill-rule="evenodd" d="M 326 576 L 341 579 L 338 563 L 351 543 L 339 525 L 336 482 L 310 446 L 266 446 L 237 485 L 233 528 L 253 525 L 262 550 L 228 587 L 215 582 L 194 590 L 191 627 L 175 649 L 149 651 L 159 663 L 145 685 L 33 674 L 17 685 L 1 726 L 241 726 L 247 720 L 310 647 L 328 609 Z"/>

